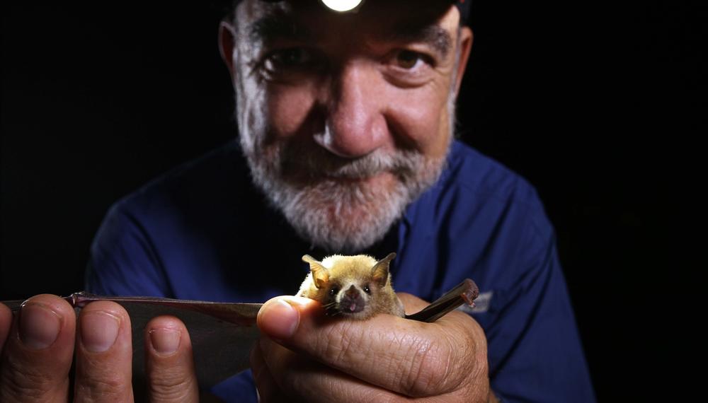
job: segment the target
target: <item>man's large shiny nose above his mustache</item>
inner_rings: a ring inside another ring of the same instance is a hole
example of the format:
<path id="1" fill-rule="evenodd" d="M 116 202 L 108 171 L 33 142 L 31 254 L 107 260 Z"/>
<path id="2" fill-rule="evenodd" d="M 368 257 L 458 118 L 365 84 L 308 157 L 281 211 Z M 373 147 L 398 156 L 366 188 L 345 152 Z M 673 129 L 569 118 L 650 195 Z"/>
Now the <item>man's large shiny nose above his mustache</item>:
<path id="1" fill-rule="evenodd" d="M 384 117 L 384 88 L 372 66 L 348 64 L 324 89 L 324 133 L 315 136 L 321 146 L 338 156 L 357 158 L 384 146 L 388 127 Z"/>

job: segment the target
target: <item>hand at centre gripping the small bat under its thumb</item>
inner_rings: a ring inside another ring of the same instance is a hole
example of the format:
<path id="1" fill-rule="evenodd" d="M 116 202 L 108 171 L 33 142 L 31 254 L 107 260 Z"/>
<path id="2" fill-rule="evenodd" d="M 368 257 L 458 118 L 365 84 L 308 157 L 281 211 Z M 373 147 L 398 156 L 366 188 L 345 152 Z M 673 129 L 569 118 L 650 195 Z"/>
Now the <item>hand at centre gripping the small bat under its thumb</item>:
<path id="1" fill-rule="evenodd" d="M 399 293 L 406 313 L 427 303 Z M 287 302 L 286 302 L 287 301 Z M 262 402 L 494 401 L 486 337 L 452 312 L 424 323 L 391 315 L 324 317 L 314 300 L 278 297 L 258 313 L 263 333 L 251 353 Z"/>

